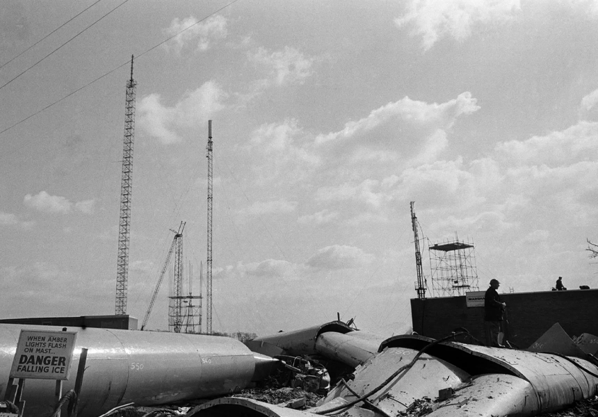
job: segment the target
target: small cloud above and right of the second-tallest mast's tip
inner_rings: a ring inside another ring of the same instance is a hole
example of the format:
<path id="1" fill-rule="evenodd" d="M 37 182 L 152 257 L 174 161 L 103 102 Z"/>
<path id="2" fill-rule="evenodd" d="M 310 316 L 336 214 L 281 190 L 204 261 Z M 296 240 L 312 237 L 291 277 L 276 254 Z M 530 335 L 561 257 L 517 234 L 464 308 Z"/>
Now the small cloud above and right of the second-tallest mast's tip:
<path id="1" fill-rule="evenodd" d="M 314 58 L 306 58 L 297 49 L 284 47 L 282 51 L 270 52 L 264 47 L 249 55 L 250 61 L 264 68 L 275 85 L 301 84 L 314 74 Z"/>

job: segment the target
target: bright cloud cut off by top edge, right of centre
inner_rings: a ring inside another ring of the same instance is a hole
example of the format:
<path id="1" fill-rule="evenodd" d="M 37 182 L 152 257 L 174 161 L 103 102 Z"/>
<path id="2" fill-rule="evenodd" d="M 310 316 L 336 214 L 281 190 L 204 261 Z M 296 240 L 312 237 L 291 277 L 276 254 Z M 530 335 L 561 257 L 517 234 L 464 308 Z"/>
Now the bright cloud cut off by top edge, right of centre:
<path id="1" fill-rule="evenodd" d="M 405 15 L 394 22 L 398 28 L 410 26 L 427 51 L 445 36 L 469 38 L 476 24 L 508 22 L 520 9 L 519 0 L 410 0 Z"/>

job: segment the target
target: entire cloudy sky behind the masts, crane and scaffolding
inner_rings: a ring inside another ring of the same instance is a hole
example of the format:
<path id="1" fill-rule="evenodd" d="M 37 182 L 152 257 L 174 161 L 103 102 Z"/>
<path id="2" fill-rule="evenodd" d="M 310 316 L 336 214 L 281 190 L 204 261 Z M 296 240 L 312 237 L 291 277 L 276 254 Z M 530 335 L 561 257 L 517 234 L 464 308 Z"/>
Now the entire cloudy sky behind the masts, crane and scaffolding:
<path id="1" fill-rule="evenodd" d="M 207 327 L 208 120 L 214 332 L 404 332 L 410 202 L 428 297 L 455 239 L 480 291 L 598 287 L 596 0 L 6 0 L 0 317 L 114 313 L 131 55 L 139 323 L 185 222 Z"/>

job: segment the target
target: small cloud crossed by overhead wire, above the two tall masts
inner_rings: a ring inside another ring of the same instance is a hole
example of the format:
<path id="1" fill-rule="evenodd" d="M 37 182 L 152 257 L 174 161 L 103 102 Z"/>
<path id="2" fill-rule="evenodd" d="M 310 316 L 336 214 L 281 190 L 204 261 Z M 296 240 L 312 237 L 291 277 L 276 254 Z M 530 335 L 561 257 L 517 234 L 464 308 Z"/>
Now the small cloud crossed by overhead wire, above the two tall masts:
<path id="1" fill-rule="evenodd" d="M 193 16 L 180 20 L 173 19 L 165 34 L 174 36 L 165 43 L 166 49 L 173 49 L 177 54 L 189 44 L 196 45 L 195 51 L 207 51 L 213 42 L 227 37 L 227 19 L 221 15 L 214 15 L 200 22 Z M 170 45 L 174 43 L 172 47 Z"/>

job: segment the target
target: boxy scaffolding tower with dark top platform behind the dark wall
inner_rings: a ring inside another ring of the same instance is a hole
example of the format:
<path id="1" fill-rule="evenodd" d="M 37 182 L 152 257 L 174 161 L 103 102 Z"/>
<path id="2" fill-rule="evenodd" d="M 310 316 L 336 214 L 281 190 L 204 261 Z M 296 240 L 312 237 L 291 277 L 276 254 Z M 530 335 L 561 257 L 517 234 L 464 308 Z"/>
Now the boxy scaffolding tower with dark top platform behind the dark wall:
<path id="1" fill-rule="evenodd" d="M 478 291 L 478 272 L 473 243 L 455 240 L 428 245 L 432 291 L 435 297 L 455 297 Z"/>

